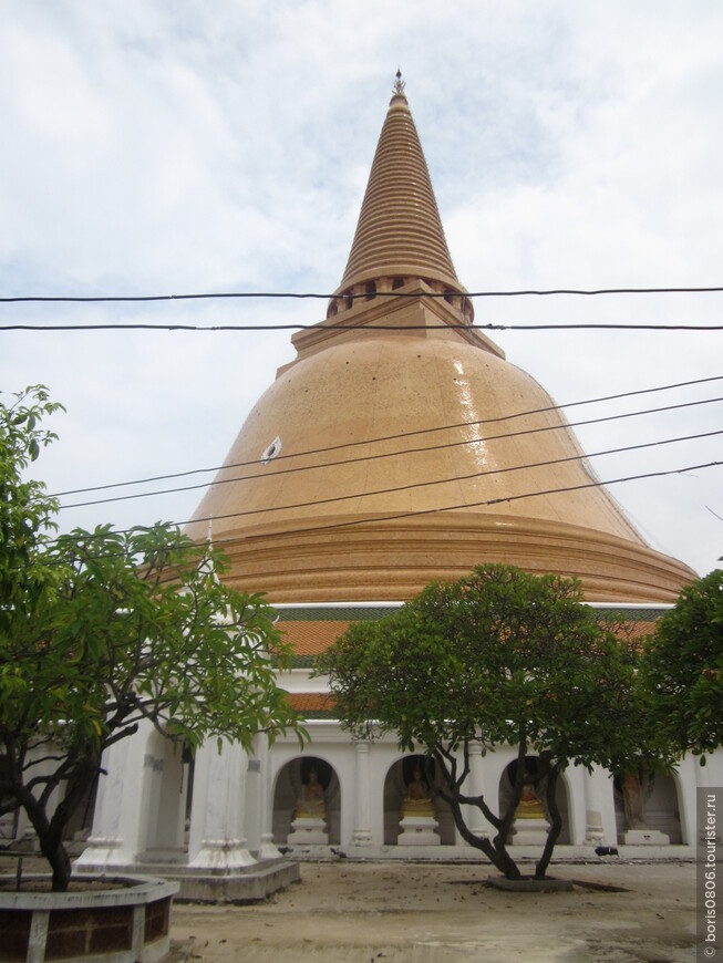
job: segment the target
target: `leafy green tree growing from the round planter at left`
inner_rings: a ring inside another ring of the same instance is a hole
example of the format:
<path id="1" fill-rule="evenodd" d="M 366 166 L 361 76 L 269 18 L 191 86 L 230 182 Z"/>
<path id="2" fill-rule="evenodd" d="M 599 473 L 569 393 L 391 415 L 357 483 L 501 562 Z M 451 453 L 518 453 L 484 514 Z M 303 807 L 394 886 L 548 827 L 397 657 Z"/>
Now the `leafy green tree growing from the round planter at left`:
<path id="1" fill-rule="evenodd" d="M 63 830 L 143 719 L 192 749 L 306 734 L 276 683 L 273 611 L 219 581 L 221 552 L 162 524 L 49 538 L 55 505 L 21 473 L 55 407 L 44 389 L 0 406 L 0 814 L 25 810 L 64 890 Z"/>

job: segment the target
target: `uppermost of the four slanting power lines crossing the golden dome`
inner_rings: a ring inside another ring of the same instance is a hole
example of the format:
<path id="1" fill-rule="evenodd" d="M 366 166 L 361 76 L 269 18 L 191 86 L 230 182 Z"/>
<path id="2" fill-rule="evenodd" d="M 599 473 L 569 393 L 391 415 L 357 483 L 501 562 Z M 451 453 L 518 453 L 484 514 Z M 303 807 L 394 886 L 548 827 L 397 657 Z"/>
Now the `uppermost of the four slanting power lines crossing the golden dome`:
<path id="1" fill-rule="evenodd" d="M 476 427 L 478 425 L 495 424 L 498 422 L 513 421 L 514 418 L 529 417 L 530 415 L 538 415 L 538 414 L 544 414 L 547 412 L 561 411 L 564 408 L 579 407 L 581 405 L 600 404 L 602 402 L 609 402 L 609 401 L 619 401 L 619 400 L 626 398 L 626 397 L 633 397 L 633 396 L 641 395 L 641 394 L 654 394 L 654 393 L 661 392 L 661 391 L 674 391 L 679 387 L 691 387 L 693 385 L 707 384 L 707 383 L 714 382 L 714 381 L 723 381 L 723 375 L 713 375 L 711 377 L 700 377 L 700 379 L 695 379 L 693 381 L 682 381 L 682 382 L 676 382 L 673 384 L 658 385 L 655 387 L 638 389 L 634 391 L 620 392 L 618 394 L 600 395 L 598 397 L 583 398 L 582 401 L 576 401 L 576 402 L 567 402 L 567 403 L 560 404 L 560 405 L 547 405 L 545 407 L 531 408 L 531 410 L 528 410 L 525 412 L 515 412 L 514 414 L 510 414 L 510 415 L 499 415 L 499 416 L 494 417 L 494 418 L 477 418 L 477 420 L 471 421 L 471 422 L 455 422 L 455 423 L 452 423 L 448 425 L 436 425 L 436 426 L 431 427 L 431 428 L 419 428 L 416 431 L 399 432 L 399 433 L 391 434 L 391 435 L 379 435 L 379 436 L 373 437 L 373 438 L 363 438 L 361 441 L 355 441 L 355 442 L 343 442 L 343 443 L 337 444 L 337 445 L 327 445 L 327 446 L 321 447 L 321 448 L 308 448 L 306 451 L 296 452 L 296 453 L 290 454 L 290 455 L 282 455 L 282 454 L 277 455 L 277 457 L 273 460 L 275 462 L 285 462 L 285 460 L 288 460 L 289 458 L 299 458 L 301 456 L 308 456 L 308 455 L 321 455 L 321 454 L 327 454 L 329 452 L 339 452 L 339 451 L 342 451 L 344 448 L 359 447 L 361 445 L 373 445 L 373 444 L 378 444 L 380 442 L 399 441 L 400 438 L 409 438 L 409 437 L 413 437 L 416 435 L 425 435 L 425 434 L 433 434 L 435 432 L 447 432 L 447 431 L 453 431 L 456 428 Z M 334 463 L 334 464 L 337 464 L 337 463 Z M 130 480 L 130 482 L 114 482 L 114 483 L 110 483 L 106 485 L 86 486 L 84 488 L 69 488 L 65 491 L 55 491 L 51 497 L 62 498 L 66 495 L 83 495 L 83 494 L 86 494 L 90 491 L 104 491 L 104 490 L 107 490 L 110 488 L 124 488 L 124 487 L 128 487 L 132 485 L 146 485 L 146 484 L 149 484 L 152 482 L 165 482 L 165 480 L 172 479 L 172 478 L 186 478 L 189 475 L 204 475 L 204 474 L 208 474 L 210 472 L 219 472 L 221 468 L 231 469 L 231 468 L 248 468 L 248 467 L 255 467 L 255 466 L 258 466 L 258 459 L 255 459 L 252 462 L 235 462 L 235 463 L 231 463 L 230 465 L 217 465 L 213 468 L 192 468 L 190 470 L 186 470 L 186 472 L 174 472 L 174 473 L 166 474 L 166 475 L 153 475 L 153 476 L 149 476 L 147 478 L 137 478 L 135 480 Z M 276 472 L 275 474 L 279 474 L 279 473 Z M 256 476 L 252 476 L 252 477 L 256 477 Z M 205 487 L 205 485 L 200 485 L 200 486 L 196 486 L 196 487 L 203 488 L 203 487 Z M 182 490 L 182 489 L 172 489 L 172 490 Z M 154 493 L 149 493 L 149 494 L 154 494 Z M 165 494 L 165 493 L 163 493 L 163 494 Z M 68 507 L 71 507 L 71 506 L 68 506 Z"/>

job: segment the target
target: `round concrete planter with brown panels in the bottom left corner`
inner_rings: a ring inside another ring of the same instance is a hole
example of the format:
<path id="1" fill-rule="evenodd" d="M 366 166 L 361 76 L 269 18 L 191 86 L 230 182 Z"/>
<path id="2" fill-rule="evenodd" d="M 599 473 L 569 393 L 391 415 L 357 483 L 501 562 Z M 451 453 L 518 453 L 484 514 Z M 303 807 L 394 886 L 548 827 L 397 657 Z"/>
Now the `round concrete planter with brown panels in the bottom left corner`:
<path id="1" fill-rule="evenodd" d="M 42 879 L 25 876 L 23 880 Z M 73 881 L 97 876 L 73 874 Z M 106 877 L 117 889 L 0 892 L 0 961 L 156 963 L 169 949 L 171 903 L 178 883 Z"/>

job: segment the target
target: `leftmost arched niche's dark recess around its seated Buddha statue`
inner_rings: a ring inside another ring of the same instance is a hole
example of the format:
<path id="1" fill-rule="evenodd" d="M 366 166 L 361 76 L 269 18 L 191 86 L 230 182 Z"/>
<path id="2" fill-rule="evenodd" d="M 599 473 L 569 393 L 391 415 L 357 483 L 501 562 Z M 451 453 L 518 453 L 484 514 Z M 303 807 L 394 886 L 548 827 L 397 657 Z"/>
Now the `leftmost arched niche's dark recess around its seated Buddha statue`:
<path id="1" fill-rule="evenodd" d="M 323 789 L 327 807 L 329 843 L 340 842 L 341 787 L 334 767 L 320 756 L 297 756 L 278 773 L 273 789 L 273 842 L 283 846 L 291 831 L 295 810 L 302 798 L 303 787 L 309 785 L 311 770 Z"/>

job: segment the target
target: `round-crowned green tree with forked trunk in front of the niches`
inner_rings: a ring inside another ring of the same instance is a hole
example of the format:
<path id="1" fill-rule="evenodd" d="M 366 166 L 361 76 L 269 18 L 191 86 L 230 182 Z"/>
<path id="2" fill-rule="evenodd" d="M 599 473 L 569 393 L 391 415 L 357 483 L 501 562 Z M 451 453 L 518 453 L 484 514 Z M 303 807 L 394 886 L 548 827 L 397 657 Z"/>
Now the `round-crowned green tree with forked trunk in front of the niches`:
<path id="1" fill-rule="evenodd" d="M 561 829 L 560 773 L 571 763 L 624 770 L 640 731 L 634 660 L 582 604 L 577 582 L 508 566 L 477 567 L 457 582 L 433 582 L 392 615 L 358 622 L 318 660 L 343 725 L 357 737 L 397 735 L 421 746 L 441 773 L 434 790 L 462 837 L 508 879 L 520 877 L 507 838 L 538 754 L 536 778 L 549 814 L 536 866 L 544 878 Z M 629 723 L 629 724 L 626 724 Z M 497 815 L 465 791 L 469 745 L 517 746 L 514 793 Z M 433 785 L 432 767 L 427 777 Z M 495 833 L 473 833 L 463 806 L 478 807 Z"/>

